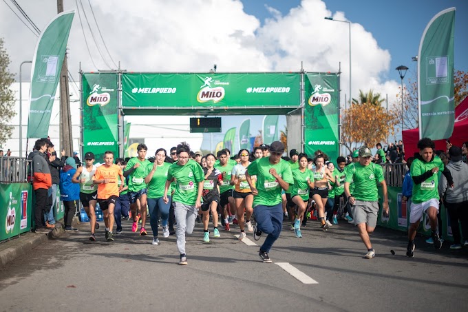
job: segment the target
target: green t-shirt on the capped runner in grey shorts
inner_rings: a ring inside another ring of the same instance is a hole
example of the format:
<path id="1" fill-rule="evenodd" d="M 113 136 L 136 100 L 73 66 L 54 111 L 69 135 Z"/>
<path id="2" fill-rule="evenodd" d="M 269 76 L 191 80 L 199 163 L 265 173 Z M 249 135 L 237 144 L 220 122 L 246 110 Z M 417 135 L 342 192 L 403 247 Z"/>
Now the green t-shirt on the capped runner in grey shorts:
<path id="1" fill-rule="evenodd" d="M 363 166 L 359 162 L 350 164 L 345 169 L 345 176 L 345 182 L 354 181 L 352 197 L 364 201 L 379 200 L 377 183 L 383 181 L 383 170 L 380 165 L 370 163 L 368 166 Z"/>

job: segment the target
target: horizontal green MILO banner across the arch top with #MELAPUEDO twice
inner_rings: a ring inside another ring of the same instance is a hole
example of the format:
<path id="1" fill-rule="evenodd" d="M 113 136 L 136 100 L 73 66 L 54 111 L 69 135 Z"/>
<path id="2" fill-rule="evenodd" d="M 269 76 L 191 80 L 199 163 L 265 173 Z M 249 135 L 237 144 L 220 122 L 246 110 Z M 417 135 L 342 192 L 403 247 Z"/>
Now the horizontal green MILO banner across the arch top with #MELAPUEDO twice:
<path id="1" fill-rule="evenodd" d="M 297 73 L 125 73 L 123 107 L 298 107 Z"/>

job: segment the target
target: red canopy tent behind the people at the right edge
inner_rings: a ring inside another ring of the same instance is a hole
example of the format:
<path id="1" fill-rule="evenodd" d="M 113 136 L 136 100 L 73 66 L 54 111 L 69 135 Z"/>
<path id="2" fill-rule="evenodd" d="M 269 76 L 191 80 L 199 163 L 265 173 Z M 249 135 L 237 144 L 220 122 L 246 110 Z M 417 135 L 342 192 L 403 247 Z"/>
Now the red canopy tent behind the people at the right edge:
<path id="1" fill-rule="evenodd" d="M 450 143 L 462 147 L 468 141 L 468 96 L 455 108 L 454 132 L 449 138 Z M 403 131 L 403 145 L 405 145 L 405 160 L 414 156 L 418 151 L 419 128 Z M 445 140 L 434 141 L 436 149 L 445 151 L 447 144 Z"/>

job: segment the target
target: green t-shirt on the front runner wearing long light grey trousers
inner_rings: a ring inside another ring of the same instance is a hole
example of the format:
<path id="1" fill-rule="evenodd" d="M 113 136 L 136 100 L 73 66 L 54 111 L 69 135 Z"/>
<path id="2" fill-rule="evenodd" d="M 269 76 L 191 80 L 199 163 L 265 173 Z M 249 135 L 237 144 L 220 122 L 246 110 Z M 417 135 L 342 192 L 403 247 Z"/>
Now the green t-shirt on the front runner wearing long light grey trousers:
<path id="1" fill-rule="evenodd" d="M 167 172 L 167 180 L 175 178 L 173 202 L 193 206 L 197 201 L 198 183 L 204 180 L 203 169 L 195 160 L 190 159 L 185 165 L 173 163 Z M 201 198 L 200 198 L 201 200 Z"/>

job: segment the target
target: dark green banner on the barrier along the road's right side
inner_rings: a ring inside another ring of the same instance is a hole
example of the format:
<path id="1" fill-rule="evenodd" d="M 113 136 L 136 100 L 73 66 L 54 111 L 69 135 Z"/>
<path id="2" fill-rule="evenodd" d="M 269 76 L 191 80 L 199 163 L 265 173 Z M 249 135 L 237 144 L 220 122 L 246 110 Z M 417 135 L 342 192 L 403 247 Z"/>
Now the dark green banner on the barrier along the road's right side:
<path id="1" fill-rule="evenodd" d="M 401 187 L 387 187 L 387 193 L 390 214 L 388 217 L 385 217 L 383 216 L 383 209 L 380 209 L 377 224 L 398 231 L 407 231 L 409 227 L 410 202 L 403 202 L 403 200 L 401 200 L 403 198 Z M 381 187 L 379 187 L 379 198 L 383 198 Z M 447 209 L 443 206 L 440 207 L 440 217 L 443 223 L 443 239 L 453 242 L 454 238 L 451 235 L 451 225 L 449 218 L 447 218 Z M 418 233 L 431 236 L 431 226 L 429 225 L 429 218 L 427 218 L 426 214 L 423 214 L 423 220 L 421 220 L 419 224 Z"/>

